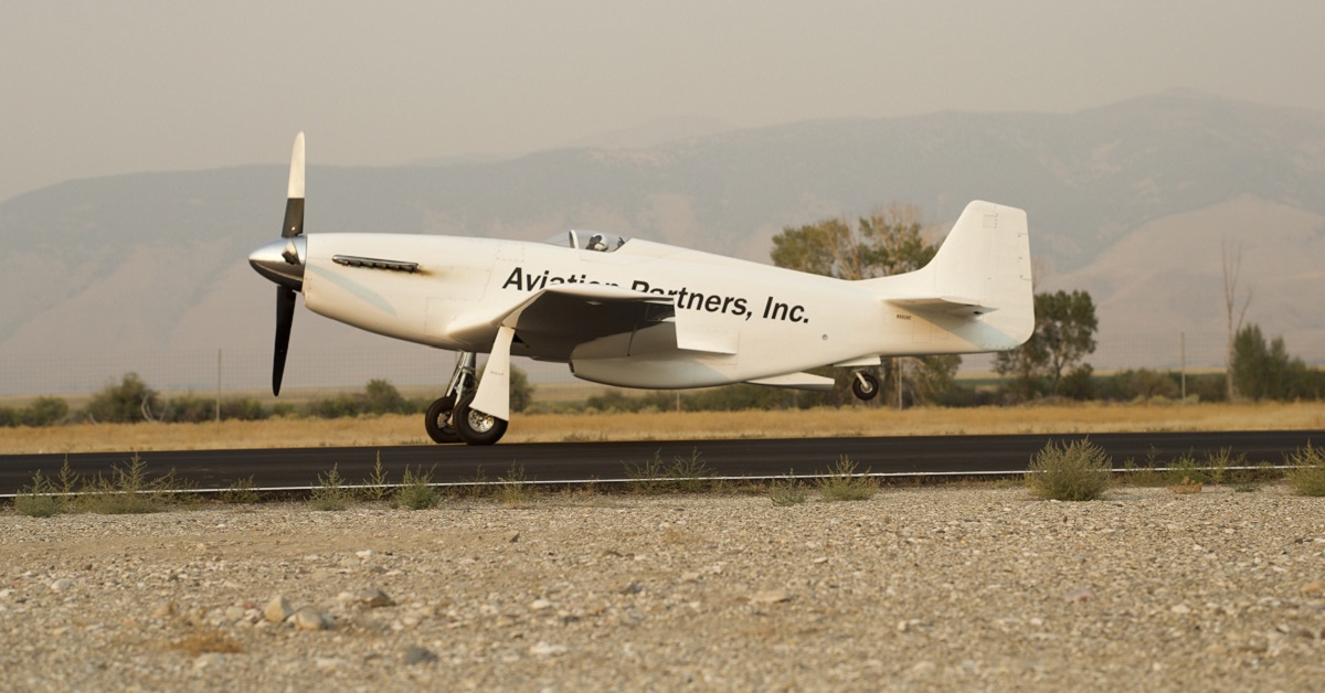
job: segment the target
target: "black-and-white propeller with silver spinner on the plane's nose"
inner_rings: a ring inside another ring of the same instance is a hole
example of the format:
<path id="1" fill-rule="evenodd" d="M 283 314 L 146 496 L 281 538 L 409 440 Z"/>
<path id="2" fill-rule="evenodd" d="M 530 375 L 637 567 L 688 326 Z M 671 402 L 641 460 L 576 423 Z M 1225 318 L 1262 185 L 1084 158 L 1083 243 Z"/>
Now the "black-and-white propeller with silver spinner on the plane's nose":
<path id="1" fill-rule="evenodd" d="M 290 187 L 285 203 L 281 240 L 268 242 L 249 254 L 249 264 L 276 282 L 276 351 L 272 362 L 272 394 L 281 394 L 285 356 L 290 348 L 290 325 L 294 322 L 294 293 L 303 290 L 303 133 L 294 138 L 290 155 Z"/>

